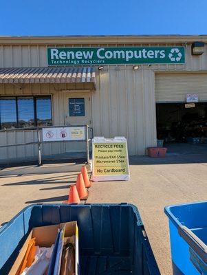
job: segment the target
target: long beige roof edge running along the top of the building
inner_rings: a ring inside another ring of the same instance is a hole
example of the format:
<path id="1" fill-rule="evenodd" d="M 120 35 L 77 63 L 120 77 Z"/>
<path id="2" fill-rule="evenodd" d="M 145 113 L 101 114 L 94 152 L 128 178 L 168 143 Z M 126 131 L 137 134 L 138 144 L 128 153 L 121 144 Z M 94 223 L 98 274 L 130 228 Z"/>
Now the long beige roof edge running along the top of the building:
<path id="1" fill-rule="evenodd" d="M 207 42 L 204 35 L 112 35 L 112 36 L 0 36 L 2 45 L 100 45 Z"/>

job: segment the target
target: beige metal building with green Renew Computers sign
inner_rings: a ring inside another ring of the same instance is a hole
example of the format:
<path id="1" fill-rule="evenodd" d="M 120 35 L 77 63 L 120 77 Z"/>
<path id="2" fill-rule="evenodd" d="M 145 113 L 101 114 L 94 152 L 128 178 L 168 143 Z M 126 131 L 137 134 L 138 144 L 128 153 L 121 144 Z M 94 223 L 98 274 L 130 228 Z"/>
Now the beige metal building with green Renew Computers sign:
<path id="1" fill-rule="evenodd" d="M 94 136 L 127 137 L 129 155 L 145 155 L 157 144 L 156 104 L 184 106 L 187 94 L 207 102 L 206 42 L 207 36 L 0 37 L 0 145 L 35 142 L 36 126 L 89 124 Z M 43 156 L 84 146 L 43 144 Z M 36 144 L 0 148 L 0 160 L 37 153 Z"/>

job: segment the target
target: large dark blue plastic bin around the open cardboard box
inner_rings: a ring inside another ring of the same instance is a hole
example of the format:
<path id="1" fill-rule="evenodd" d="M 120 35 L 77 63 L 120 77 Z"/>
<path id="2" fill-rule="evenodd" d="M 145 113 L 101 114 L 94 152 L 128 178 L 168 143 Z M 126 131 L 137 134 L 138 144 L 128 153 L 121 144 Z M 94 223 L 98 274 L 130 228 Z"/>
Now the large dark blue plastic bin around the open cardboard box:
<path id="1" fill-rule="evenodd" d="M 0 274 L 33 227 L 67 221 L 78 221 L 81 275 L 160 275 L 138 209 L 127 203 L 24 208 L 0 229 Z"/>

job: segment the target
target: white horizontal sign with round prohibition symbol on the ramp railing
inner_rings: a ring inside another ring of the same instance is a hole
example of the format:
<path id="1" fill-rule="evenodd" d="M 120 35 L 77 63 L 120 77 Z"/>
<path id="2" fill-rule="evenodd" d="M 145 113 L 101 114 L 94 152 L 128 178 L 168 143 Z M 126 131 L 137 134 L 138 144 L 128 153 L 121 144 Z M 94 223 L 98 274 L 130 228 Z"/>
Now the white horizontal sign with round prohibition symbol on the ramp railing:
<path id="1" fill-rule="evenodd" d="M 85 127 L 43 128 L 43 142 L 85 140 Z"/>

